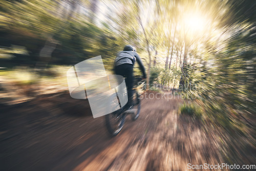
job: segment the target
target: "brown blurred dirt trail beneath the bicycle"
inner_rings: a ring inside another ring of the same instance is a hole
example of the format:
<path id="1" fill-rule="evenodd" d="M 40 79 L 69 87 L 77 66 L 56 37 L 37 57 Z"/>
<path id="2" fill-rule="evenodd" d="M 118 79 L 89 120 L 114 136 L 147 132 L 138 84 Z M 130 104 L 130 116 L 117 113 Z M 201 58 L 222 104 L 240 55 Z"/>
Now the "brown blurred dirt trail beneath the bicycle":
<path id="1" fill-rule="evenodd" d="M 104 117 L 69 94 L 0 106 L 0 170 L 188 170 L 221 163 L 218 144 L 199 121 L 177 114 L 182 102 L 143 99 L 139 118 L 126 118 L 110 138 Z"/>

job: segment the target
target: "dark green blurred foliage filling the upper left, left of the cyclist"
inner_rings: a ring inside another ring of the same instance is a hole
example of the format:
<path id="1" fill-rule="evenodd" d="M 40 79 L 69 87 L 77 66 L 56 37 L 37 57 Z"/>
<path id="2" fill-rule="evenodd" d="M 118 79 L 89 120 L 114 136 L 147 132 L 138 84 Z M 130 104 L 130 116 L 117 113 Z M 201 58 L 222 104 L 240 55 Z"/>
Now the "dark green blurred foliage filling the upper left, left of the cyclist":
<path id="1" fill-rule="evenodd" d="M 84 59 L 101 55 L 110 70 L 113 60 L 123 46 L 120 35 L 113 33 L 104 24 L 96 26 L 87 20 L 86 16 L 72 18 L 78 15 L 76 11 L 62 11 L 66 2 L 22 1 L 1 2 L 0 25 L 0 56 L 9 56 L 1 60 L 5 66 L 27 65 L 34 67 L 35 63 L 45 62 L 54 65 L 73 65 Z M 50 57 L 40 56 L 42 48 L 56 44 Z M 10 51 L 12 45 L 25 49 L 28 53 Z M 11 56 L 11 58 L 10 58 Z"/>

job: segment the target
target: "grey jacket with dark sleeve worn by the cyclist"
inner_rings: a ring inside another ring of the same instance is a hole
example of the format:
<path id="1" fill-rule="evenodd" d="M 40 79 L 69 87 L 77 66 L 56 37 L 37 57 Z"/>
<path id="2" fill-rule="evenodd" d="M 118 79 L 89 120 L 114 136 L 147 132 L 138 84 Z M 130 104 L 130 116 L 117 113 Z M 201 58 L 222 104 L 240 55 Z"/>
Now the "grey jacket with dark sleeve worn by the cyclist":
<path id="1" fill-rule="evenodd" d="M 115 59 L 115 66 L 122 65 L 124 63 L 129 63 L 134 66 L 135 61 L 138 62 L 140 70 L 143 74 L 143 77 L 146 78 L 145 68 L 142 64 L 142 61 L 135 51 L 121 51 L 117 54 L 117 57 Z"/>

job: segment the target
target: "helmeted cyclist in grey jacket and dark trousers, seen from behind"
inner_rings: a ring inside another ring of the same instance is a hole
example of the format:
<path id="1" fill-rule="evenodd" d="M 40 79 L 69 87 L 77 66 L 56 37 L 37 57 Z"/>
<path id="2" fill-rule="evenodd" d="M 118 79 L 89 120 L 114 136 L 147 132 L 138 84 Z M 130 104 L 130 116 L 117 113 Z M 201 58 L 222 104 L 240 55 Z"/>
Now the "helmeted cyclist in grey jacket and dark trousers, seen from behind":
<path id="1" fill-rule="evenodd" d="M 138 53 L 136 52 L 136 49 L 132 45 L 126 45 L 123 48 L 123 51 L 117 54 L 115 59 L 114 65 L 116 75 L 121 75 L 126 78 L 125 83 L 128 95 L 128 102 L 125 105 L 126 110 L 133 108 L 133 68 L 136 61 L 139 64 L 143 78 L 146 78 L 145 68 Z"/>

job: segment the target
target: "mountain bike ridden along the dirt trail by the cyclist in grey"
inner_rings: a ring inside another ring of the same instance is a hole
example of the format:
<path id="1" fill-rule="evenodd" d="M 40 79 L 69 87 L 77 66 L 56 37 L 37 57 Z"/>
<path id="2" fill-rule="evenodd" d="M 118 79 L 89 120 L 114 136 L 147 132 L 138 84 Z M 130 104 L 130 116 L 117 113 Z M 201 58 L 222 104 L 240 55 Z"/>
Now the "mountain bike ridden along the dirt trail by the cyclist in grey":
<path id="1" fill-rule="evenodd" d="M 105 124 L 108 132 L 111 136 L 116 136 L 120 133 L 123 128 L 124 121 L 127 115 L 132 114 L 132 119 L 135 121 L 140 114 L 140 93 L 139 90 L 142 90 L 145 84 L 145 81 L 142 78 L 138 77 L 134 79 L 134 85 L 138 84 L 137 87 L 134 87 L 133 91 L 133 109 L 125 110 L 125 106 L 121 109 L 112 112 L 108 115 L 105 115 Z M 142 89 L 140 89 L 142 88 Z M 119 105 L 119 104 L 114 104 Z"/>

